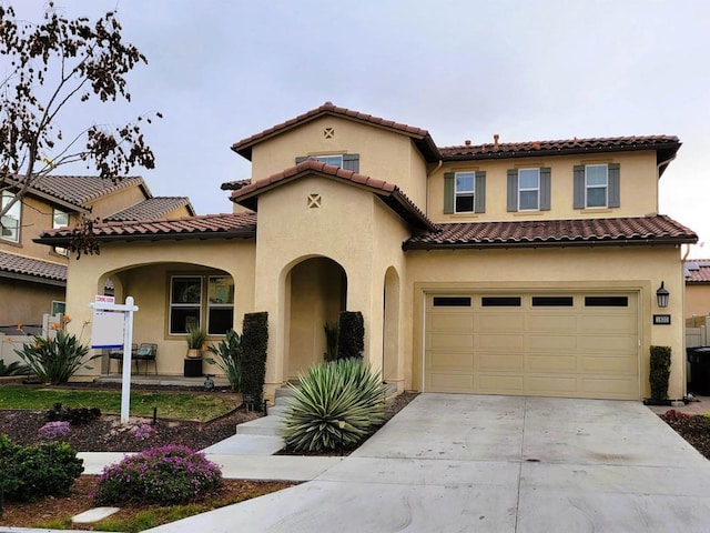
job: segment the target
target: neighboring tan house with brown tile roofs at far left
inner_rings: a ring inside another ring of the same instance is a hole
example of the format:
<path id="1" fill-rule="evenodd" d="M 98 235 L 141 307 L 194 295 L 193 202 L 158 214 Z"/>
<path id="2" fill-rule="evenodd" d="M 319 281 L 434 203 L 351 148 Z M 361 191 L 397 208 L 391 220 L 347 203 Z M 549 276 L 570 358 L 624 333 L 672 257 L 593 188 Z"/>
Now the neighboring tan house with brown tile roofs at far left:
<path id="1" fill-rule="evenodd" d="M 4 205 L 13 189 L 2 192 Z M 72 228 L 82 217 L 103 220 L 194 215 L 186 198 L 153 198 L 142 178 L 121 181 L 85 175 L 45 175 L 2 217 L 0 235 L 0 326 L 41 324 L 43 314 L 64 312 L 68 251 L 33 242 L 49 228 Z"/>

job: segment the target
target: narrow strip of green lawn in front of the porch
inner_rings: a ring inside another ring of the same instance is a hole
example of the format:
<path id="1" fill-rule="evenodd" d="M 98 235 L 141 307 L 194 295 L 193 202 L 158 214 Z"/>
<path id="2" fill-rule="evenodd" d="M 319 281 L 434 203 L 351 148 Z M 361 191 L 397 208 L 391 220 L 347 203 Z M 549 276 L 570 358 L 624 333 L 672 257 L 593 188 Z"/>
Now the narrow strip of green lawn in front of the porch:
<path id="1" fill-rule="evenodd" d="M 54 389 L 21 385 L 0 388 L 0 409 L 49 410 L 54 403 L 67 408 L 99 408 L 103 413 L 121 412 L 120 391 Z M 185 392 L 131 392 L 131 415 L 205 422 L 234 409 L 234 399 L 223 394 Z"/>

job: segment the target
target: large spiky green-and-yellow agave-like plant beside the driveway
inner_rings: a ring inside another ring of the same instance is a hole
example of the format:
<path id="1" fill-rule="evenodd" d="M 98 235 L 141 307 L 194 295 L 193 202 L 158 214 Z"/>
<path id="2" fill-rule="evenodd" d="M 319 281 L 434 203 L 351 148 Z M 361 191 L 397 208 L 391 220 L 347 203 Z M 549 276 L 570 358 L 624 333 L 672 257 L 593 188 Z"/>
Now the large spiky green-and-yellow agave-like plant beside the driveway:
<path id="1" fill-rule="evenodd" d="M 308 368 L 293 388 L 283 436 L 294 451 L 355 447 L 385 421 L 386 385 L 362 359 Z M 343 424 L 343 428 L 341 428 Z"/>

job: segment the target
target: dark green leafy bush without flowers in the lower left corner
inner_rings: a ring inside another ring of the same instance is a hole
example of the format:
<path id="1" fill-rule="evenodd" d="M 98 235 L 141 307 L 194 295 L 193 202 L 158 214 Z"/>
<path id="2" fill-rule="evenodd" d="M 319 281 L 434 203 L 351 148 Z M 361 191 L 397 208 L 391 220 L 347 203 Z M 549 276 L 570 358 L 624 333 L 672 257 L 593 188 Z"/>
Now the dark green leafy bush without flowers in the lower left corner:
<path id="1" fill-rule="evenodd" d="M 0 435 L 0 484 L 8 501 L 31 502 L 40 496 L 69 494 L 83 471 L 83 460 L 65 443 L 22 446 L 8 435 Z"/>

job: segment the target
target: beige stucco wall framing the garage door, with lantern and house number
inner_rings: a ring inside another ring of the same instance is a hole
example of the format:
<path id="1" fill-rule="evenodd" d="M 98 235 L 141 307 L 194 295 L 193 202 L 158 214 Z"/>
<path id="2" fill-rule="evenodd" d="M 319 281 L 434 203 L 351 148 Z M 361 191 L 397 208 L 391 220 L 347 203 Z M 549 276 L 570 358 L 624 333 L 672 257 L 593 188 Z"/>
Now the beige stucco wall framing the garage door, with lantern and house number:
<path id="1" fill-rule="evenodd" d="M 407 252 L 407 322 L 405 353 L 407 386 L 420 386 L 423 294 L 442 289 L 500 290 L 625 290 L 639 293 L 641 390 L 648 385 L 649 348 L 671 346 L 671 398 L 684 394 L 683 279 L 680 252 L 672 247 L 639 249 L 527 249 Z M 670 304 L 659 309 L 656 290 L 661 281 Z M 671 325 L 652 325 L 652 314 L 671 314 Z"/>

